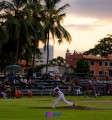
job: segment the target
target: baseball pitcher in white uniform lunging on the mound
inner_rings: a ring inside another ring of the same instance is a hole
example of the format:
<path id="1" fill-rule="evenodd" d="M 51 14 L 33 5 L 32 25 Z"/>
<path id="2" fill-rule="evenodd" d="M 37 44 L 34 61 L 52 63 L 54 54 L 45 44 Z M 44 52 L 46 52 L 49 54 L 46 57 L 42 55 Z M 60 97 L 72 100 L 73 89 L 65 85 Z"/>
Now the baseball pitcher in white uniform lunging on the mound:
<path id="1" fill-rule="evenodd" d="M 59 102 L 60 100 L 62 100 L 63 102 L 67 103 L 67 104 L 70 105 L 70 106 L 75 107 L 74 103 L 69 102 L 69 101 L 67 101 L 67 100 L 65 99 L 64 94 L 60 91 L 60 89 L 59 89 L 59 87 L 58 87 L 57 84 L 54 85 L 54 92 L 52 93 L 52 96 L 56 96 L 56 97 L 57 97 L 57 98 L 56 98 L 56 101 L 55 101 L 55 103 L 54 103 L 54 105 L 53 105 L 53 108 L 56 108 L 56 105 L 58 104 L 58 102 Z"/>

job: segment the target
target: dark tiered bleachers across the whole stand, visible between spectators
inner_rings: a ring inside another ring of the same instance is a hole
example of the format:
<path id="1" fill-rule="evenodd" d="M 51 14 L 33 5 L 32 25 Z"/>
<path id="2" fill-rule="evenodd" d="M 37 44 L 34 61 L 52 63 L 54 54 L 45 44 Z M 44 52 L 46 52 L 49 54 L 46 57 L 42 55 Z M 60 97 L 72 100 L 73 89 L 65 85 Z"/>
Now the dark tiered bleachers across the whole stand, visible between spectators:
<path id="1" fill-rule="evenodd" d="M 3 82 L 4 78 L 0 78 L 0 80 Z M 51 95 L 51 92 L 53 91 L 53 85 L 55 83 L 57 83 L 61 89 L 61 91 L 65 94 L 65 95 L 76 95 L 75 94 L 75 87 L 74 89 L 72 89 L 71 92 L 68 91 L 68 85 L 63 85 L 62 81 L 55 81 L 55 80 L 44 80 L 41 78 L 32 78 L 33 81 L 35 81 L 35 85 L 34 86 L 22 86 L 22 85 L 18 85 L 17 83 L 15 84 L 15 86 L 17 87 L 18 90 L 20 90 L 23 95 L 28 95 L 28 91 L 31 90 L 33 95 L 39 95 L 39 96 L 43 96 L 43 95 Z M 81 91 L 83 93 L 83 87 L 87 87 L 88 86 L 88 79 L 79 79 L 80 84 L 81 84 Z M 72 81 L 74 82 L 74 81 Z M 96 88 L 97 90 L 99 88 L 102 89 L 102 93 L 103 95 L 108 94 L 108 83 L 104 83 L 104 82 L 97 82 L 96 84 Z M 6 86 L 8 88 L 8 92 L 10 92 L 9 86 Z"/>

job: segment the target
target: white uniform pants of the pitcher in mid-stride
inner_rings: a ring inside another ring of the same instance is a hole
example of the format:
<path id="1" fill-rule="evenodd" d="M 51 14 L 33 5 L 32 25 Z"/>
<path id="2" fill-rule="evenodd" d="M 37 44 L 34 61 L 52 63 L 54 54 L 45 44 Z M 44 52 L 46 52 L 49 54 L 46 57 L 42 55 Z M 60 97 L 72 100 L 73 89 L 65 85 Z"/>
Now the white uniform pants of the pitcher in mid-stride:
<path id="1" fill-rule="evenodd" d="M 56 99 L 56 101 L 55 101 L 55 103 L 54 103 L 54 105 L 53 105 L 53 108 L 56 107 L 56 105 L 58 104 L 58 102 L 59 102 L 60 100 L 63 101 L 63 102 L 65 102 L 65 103 L 67 103 L 67 104 L 70 105 L 70 106 L 73 105 L 72 102 L 69 102 L 69 101 L 67 101 L 67 100 L 65 99 L 65 96 L 64 96 L 64 94 L 62 93 L 61 95 L 59 95 L 59 96 L 57 97 L 57 99 Z"/>

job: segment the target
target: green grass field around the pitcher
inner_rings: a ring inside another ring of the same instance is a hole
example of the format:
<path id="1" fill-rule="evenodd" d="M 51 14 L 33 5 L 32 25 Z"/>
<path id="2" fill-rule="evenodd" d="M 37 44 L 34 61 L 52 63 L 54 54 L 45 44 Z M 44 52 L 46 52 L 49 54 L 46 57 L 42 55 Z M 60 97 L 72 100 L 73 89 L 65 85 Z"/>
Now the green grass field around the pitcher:
<path id="1" fill-rule="evenodd" d="M 73 101 L 76 106 L 100 108 L 100 110 L 36 108 L 52 107 L 55 98 L 50 96 L 22 97 L 18 99 L 0 98 L 0 120 L 111 120 L 112 96 L 102 96 L 101 98 L 85 98 L 83 96 L 65 97 L 67 100 Z M 59 102 L 59 106 L 68 105 Z M 46 118 L 46 112 L 61 112 L 62 115 Z"/>

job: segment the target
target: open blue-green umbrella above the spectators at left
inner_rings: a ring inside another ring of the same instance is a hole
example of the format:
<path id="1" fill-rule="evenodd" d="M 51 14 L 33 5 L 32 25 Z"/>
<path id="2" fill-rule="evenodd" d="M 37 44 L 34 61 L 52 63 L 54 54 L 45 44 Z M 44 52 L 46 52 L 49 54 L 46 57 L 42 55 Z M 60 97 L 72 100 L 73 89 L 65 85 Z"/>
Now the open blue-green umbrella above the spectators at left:
<path id="1" fill-rule="evenodd" d="M 18 73 L 22 70 L 22 68 L 19 65 L 8 65 L 4 68 L 5 72 L 8 73 Z"/>

